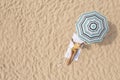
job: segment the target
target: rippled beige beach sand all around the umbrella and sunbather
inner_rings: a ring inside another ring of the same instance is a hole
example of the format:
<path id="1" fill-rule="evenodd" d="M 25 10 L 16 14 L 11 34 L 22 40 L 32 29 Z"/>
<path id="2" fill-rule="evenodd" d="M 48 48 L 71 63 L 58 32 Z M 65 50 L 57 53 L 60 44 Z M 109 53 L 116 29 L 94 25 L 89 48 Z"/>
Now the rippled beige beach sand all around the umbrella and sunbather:
<path id="1" fill-rule="evenodd" d="M 109 33 L 66 65 L 78 17 L 96 10 Z M 120 80 L 120 0 L 0 0 L 0 80 Z"/>

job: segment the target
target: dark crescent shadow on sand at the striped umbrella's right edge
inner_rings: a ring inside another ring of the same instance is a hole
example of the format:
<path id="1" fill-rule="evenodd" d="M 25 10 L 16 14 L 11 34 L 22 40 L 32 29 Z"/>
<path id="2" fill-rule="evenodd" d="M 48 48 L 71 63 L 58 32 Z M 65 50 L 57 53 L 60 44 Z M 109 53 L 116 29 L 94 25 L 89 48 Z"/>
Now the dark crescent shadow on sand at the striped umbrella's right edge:
<path id="1" fill-rule="evenodd" d="M 108 22 L 108 25 L 109 25 L 109 32 L 107 33 L 103 41 L 99 43 L 100 46 L 112 44 L 118 35 L 116 25 L 111 23 L 110 21 Z"/>

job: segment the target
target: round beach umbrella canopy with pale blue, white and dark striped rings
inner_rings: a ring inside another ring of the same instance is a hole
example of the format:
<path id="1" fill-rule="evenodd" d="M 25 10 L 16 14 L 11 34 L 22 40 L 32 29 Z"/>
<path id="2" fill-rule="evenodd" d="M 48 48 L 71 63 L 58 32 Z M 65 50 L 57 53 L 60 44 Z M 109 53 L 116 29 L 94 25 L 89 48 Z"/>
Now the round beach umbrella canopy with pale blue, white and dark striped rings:
<path id="1" fill-rule="evenodd" d="M 82 14 L 76 23 L 79 38 L 87 43 L 101 42 L 108 32 L 107 19 L 96 11 Z"/>

